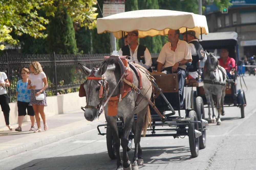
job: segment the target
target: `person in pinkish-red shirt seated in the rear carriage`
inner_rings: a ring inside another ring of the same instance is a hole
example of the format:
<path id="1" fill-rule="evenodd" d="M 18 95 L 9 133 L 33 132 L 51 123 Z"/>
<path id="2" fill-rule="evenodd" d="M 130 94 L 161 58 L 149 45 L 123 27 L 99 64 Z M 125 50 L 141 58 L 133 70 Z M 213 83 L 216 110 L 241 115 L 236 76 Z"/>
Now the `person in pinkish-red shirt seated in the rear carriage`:
<path id="1" fill-rule="evenodd" d="M 220 49 L 219 65 L 227 71 L 227 75 L 230 78 L 230 72 L 235 68 L 236 61 L 228 56 L 229 52 L 227 48 Z"/>

